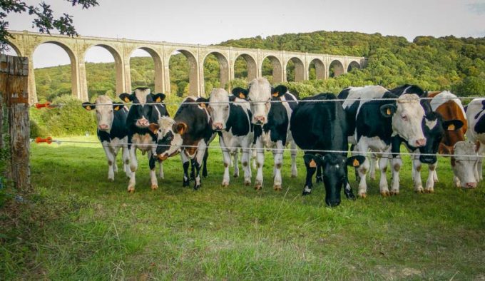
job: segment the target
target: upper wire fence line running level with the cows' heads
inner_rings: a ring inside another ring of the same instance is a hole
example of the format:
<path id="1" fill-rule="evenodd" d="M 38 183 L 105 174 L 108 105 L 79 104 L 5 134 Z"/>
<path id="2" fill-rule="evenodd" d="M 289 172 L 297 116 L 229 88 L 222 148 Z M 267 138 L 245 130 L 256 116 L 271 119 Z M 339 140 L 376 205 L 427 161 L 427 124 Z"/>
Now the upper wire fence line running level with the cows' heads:
<path id="1" fill-rule="evenodd" d="M 197 97 L 193 97 L 197 98 Z M 410 98 L 400 98 L 402 101 L 422 101 L 422 100 L 432 100 L 436 97 L 410 97 Z M 454 98 L 437 98 L 437 99 L 443 99 L 443 100 L 472 100 L 475 98 L 485 98 L 483 96 L 456 96 Z M 244 99 L 241 99 L 240 101 L 213 101 L 210 103 L 214 104 L 228 104 L 228 103 L 250 103 L 250 104 L 258 104 L 258 103 L 335 103 L 335 102 L 344 102 L 344 101 L 397 101 L 399 98 L 335 98 L 335 99 L 325 99 L 325 100 L 315 100 L 315 99 L 303 99 L 303 100 L 297 100 L 297 101 L 247 101 Z M 113 103 L 123 103 L 120 101 L 113 101 Z M 92 103 L 95 104 L 96 106 L 111 106 L 113 103 Z M 200 103 L 208 103 L 205 101 L 167 101 L 167 102 L 160 102 L 160 103 L 125 103 L 126 105 L 181 105 L 181 104 L 200 104 Z M 32 105 L 33 107 L 36 108 L 58 108 L 58 107 L 63 107 L 63 106 L 81 106 L 75 105 L 75 104 L 66 104 L 66 103 L 35 103 Z"/>

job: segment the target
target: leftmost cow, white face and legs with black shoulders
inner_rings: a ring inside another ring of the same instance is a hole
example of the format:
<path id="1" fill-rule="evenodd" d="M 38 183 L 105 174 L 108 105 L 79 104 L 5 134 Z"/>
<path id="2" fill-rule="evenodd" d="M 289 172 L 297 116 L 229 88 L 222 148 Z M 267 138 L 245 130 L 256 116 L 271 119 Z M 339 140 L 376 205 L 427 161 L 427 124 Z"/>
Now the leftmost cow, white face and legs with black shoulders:
<path id="1" fill-rule="evenodd" d="M 128 129 L 126 118 L 128 108 L 123 103 L 113 103 L 108 96 L 98 96 L 95 103 L 83 103 L 87 111 L 96 111 L 98 121 L 98 140 L 103 145 L 108 160 L 108 180 L 115 180 L 118 173 L 116 155 L 123 151 L 123 171 L 131 177 L 130 154 L 128 153 Z"/>

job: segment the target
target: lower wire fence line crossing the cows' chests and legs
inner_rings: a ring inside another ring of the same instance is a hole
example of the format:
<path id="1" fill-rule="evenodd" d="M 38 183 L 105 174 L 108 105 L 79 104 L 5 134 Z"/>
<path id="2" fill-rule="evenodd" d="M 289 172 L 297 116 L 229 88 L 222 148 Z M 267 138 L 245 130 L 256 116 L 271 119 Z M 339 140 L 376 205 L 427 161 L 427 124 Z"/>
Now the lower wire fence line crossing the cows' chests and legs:
<path id="1" fill-rule="evenodd" d="M 31 140 L 32 142 L 36 142 L 35 140 Z M 61 143 L 84 143 L 84 144 L 101 144 L 102 146 L 110 146 L 110 143 L 101 143 L 99 141 L 63 141 L 63 140 L 50 140 L 52 143 L 57 143 L 58 145 L 61 145 Z M 46 141 L 41 141 L 42 143 L 45 143 Z M 133 145 L 133 143 L 116 143 L 116 145 Z M 147 147 L 147 148 L 156 148 L 156 147 L 171 147 L 172 145 L 163 145 L 163 144 L 136 144 L 136 146 L 142 146 L 142 147 Z M 180 148 L 199 148 L 198 145 L 180 145 Z M 294 149 L 294 148 L 256 148 L 256 147 L 240 147 L 240 146 L 220 146 L 220 145 L 208 145 L 206 148 L 209 149 L 227 149 L 227 150 L 239 150 L 239 149 L 247 149 L 247 150 L 263 150 L 263 151 L 300 151 L 302 149 Z M 404 153 L 392 153 L 392 152 L 384 152 L 384 151 L 372 151 L 369 150 L 367 152 L 357 152 L 357 151 L 350 151 L 350 150 L 317 150 L 317 149 L 308 149 L 308 150 L 302 150 L 304 152 L 310 152 L 310 153 L 320 153 L 320 154 L 325 154 L 325 153 L 354 153 L 355 155 L 362 155 L 362 154 L 376 154 L 376 155 L 381 155 L 390 158 L 393 154 L 396 155 L 409 155 L 409 156 L 441 156 L 441 157 L 466 157 L 466 158 L 484 158 L 484 155 L 468 155 L 468 154 L 433 154 L 433 153 L 412 153 L 412 152 L 404 152 Z"/>

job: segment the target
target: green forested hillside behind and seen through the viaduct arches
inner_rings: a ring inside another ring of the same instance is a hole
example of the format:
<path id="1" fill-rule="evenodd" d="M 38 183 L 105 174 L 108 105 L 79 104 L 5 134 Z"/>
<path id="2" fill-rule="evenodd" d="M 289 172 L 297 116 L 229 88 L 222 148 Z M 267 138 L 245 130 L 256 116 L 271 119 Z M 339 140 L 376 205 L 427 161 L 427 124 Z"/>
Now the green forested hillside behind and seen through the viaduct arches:
<path id="1" fill-rule="evenodd" d="M 269 48 L 285 51 L 333 53 L 348 56 L 366 56 L 367 68 L 354 69 L 346 75 L 326 81 L 288 83 L 300 96 L 320 91 L 337 93 L 347 86 L 379 84 L 394 87 L 415 83 L 427 90 L 449 89 L 459 96 L 485 95 L 485 38 L 434 38 L 419 36 L 413 42 L 404 37 L 361 34 L 357 32 L 316 31 L 305 34 L 283 34 L 261 38 L 230 40 L 222 46 L 244 48 Z M 235 63 L 236 77 L 247 76 L 242 58 Z M 219 82 L 219 66 L 214 56 L 209 56 L 204 67 L 205 90 L 224 87 Z M 314 78 L 314 69 L 310 78 Z M 263 64 L 263 75 L 271 80 L 269 61 Z M 115 93 L 113 63 L 86 63 L 88 91 L 91 98 L 99 94 Z M 292 77 L 292 66 L 288 69 Z M 70 67 L 60 66 L 36 69 L 39 99 L 52 100 L 71 92 Z M 151 58 L 131 58 L 133 87 L 153 88 L 154 70 Z M 237 84 L 242 83 L 238 81 Z M 170 58 L 170 87 L 177 96 L 188 95 L 188 62 L 178 54 Z"/>

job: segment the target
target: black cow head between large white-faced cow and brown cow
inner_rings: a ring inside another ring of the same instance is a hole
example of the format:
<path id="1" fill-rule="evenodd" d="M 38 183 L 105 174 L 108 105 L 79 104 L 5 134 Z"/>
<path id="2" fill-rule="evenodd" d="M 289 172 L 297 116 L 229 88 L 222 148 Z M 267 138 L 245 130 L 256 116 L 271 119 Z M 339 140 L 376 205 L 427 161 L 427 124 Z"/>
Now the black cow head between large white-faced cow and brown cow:
<path id="1" fill-rule="evenodd" d="M 461 126 L 463 126 L 463 122 L 459 120 L 443 121 L 439 113 L 434 111 L 428 113 L 422 122 L 426 145 L 420 147 L 419 152 L 423 154 L 436 154 L 446 131 L 459 130 Z M 419 161 L 425 164 L 436 163 L 436 155 L 420 155 Z"/>

